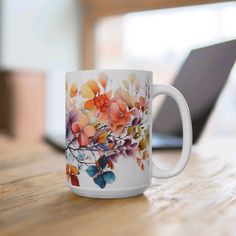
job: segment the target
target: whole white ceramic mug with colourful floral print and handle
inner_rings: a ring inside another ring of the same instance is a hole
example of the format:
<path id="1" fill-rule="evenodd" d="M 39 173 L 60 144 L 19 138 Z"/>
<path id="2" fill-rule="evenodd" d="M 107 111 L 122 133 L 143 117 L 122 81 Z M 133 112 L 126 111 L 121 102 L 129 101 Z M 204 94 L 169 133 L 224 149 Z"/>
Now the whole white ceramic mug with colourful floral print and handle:
<path id="1" fill-rule="evenodd" d="M 183 149 L 173 169 L 152 162 L 152 100 L 171 96 L 180 110 Z M 192 145 L 183 95 L 153 85 L 152 72 L 87 70 L 66 75 L 66 174 L 72 192 L 96 198 L 142 194 L 151 177 L 168 178 L 186 166 Z"/>

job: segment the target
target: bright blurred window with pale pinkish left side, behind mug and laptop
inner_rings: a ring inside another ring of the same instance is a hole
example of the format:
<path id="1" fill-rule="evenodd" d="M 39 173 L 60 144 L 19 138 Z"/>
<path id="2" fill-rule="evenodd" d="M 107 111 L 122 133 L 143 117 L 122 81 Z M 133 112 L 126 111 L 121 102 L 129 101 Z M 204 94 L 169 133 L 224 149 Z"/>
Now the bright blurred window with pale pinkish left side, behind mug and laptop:
<path id="1" fill-rule="evenodd" d="M 96 68 L 138 68 L 170 83 L 191 49 L 236 38 L 236 2 L 105 17 L 95 27 Z"/>

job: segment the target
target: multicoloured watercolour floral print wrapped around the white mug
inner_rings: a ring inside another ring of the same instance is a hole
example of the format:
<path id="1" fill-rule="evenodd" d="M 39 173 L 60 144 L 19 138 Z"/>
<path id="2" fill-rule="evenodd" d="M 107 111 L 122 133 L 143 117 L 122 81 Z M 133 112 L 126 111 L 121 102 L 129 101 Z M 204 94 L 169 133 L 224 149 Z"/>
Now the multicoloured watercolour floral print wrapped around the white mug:
<path id="1" fill-rule="evenodd" d="M 121 158 L 132 158 L 140 171 L 148 165 L 148 82 L 131 73 L 113 83 L 103 72 L 80 87 L 66 82 L 66 175 L 73 186 L 81 172 L 101 189 L 112 184 Z"/>

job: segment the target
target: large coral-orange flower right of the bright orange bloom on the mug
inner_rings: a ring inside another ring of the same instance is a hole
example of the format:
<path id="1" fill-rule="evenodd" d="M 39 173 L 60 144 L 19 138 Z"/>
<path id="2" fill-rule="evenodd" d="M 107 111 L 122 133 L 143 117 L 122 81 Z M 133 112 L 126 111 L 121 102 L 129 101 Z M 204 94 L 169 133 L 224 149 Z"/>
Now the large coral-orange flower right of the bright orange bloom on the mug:
<path id="1" fill-rule="evenodd" d="M 122 132 L 125 125 L 130 121 L 131 115 L 128 106 L 121 99 L 115 99 L 110 105 L 110 128 L 113 132 Z"/>

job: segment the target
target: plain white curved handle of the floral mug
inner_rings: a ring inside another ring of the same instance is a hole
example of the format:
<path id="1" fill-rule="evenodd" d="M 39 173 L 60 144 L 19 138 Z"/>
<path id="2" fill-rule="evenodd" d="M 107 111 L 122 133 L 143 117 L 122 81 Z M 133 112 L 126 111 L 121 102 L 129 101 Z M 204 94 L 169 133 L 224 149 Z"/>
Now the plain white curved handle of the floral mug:
<path id="1" fill-rule="evenodd" d="M 176 88 L 169 85 L 154 85 L 153 98 L 161 94 L 166 94 L 176 101 L 183 126 L 183 147 L 178 163 L 171 169 L 164 169 L 154 164 L 152 160 L 152 176 L 156 178 L 169 178 L 178 175 L 189 160 L 192 147 L 192 123 L 187 102 Z"/>

